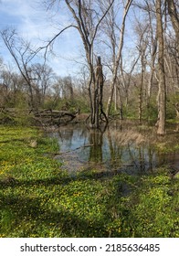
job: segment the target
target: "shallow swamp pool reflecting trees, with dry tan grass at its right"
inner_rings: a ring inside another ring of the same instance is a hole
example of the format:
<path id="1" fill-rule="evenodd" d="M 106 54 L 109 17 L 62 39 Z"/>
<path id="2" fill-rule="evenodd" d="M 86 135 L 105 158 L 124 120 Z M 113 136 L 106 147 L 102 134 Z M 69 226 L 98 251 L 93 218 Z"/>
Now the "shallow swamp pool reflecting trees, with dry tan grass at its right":
<path id="1" fill-rule="evenodd" d="M 163 165 L 179 169 L 179 153 L 163 153 L 165 146 L 169 151 L 170 145 L 178 148 L 179 135 L 174 127 L 169 135 L 157 137 L 153 127 L 137 123 L 113 122 L 104 133 L 76 123 L 61 126 L 51 135 L 58 138 L 60 155 L 56 158 L 72 174 L 95 169 L 142 175 Z"/>

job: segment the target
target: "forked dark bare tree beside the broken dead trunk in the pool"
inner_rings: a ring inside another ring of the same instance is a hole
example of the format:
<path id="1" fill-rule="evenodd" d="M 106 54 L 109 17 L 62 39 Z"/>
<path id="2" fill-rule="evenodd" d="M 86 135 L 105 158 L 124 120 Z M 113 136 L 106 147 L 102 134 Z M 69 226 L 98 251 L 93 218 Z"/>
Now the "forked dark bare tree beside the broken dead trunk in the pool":
<path id="1" fill-rule="evenodd" d="M 105 11 L 101 12 L 100 6 L 95 4 L 95 1 L 65 1 L 69 11 L 76 21 L 76 27 L 79 31 L 79 35 L 82 39 L 83 46 L 86 53 L 86 59 L 89 66 L 89 101 L 90 101 L 90 117 L 89 126 L 91 128 L 99 128 L 99 119 L 103 114 L 107 122 L 105 113 L 103 112 L 101 105 L 99 105 L 99 89 L 98 81 L 95 76 L 95 64 L 94 64 L 94 41 L 97 37 L 97 33 L 100 27 L 100 23 L 103 18 L 109 12 L 114 0 L 109 0 L 109 5 Z M 96 5 L 96 6 L 95 6 Z M 97 11 L 95 9 L 98 9 Z M 98 60 L 99 61 L 99 60 Z M 97 62 L 97 66 L 99 62 Z"/>

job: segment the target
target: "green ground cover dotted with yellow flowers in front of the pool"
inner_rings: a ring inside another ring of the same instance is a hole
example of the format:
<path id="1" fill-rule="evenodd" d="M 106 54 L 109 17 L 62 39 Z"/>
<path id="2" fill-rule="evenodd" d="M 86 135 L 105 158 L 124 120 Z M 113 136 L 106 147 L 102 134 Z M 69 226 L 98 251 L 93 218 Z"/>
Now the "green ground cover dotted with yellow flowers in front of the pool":
<path id="1" fill-rule="evenodd" d="M 57 150 L 36 128 L 0 126 L 0 237 L 179 237 L 179 181 L 166 168 L 69 176 Z"/>

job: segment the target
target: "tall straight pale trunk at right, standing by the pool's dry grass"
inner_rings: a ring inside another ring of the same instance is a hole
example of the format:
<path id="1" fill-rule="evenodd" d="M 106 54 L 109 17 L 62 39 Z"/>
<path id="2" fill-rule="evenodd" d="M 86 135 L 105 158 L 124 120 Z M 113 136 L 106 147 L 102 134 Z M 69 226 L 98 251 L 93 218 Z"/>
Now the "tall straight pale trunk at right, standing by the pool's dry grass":
<path id="1" fill-rule="evenodd" d="M 163 47 L 163 20 L 161 10 L 161 0 L 156 0 L 157 18 L 157 40 L 158 40 L 158 70 L 159 70 L 159 92 L 158 92 L 158 122 L 157 134 L 165 133 L 166 118 L 166 85 L 164 74 L 164 47 Z"/>

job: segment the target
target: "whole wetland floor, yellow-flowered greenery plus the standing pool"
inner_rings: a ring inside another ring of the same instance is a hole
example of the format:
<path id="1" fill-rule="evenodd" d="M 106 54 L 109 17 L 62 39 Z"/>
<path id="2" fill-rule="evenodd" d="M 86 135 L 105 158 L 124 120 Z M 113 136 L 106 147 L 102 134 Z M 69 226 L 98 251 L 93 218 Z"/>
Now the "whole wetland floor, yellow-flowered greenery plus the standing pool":
<path id="1" fill-rule="evenodd" d="M 174 125 L 1 125 L 0 236 L 179 237 Z"/>

